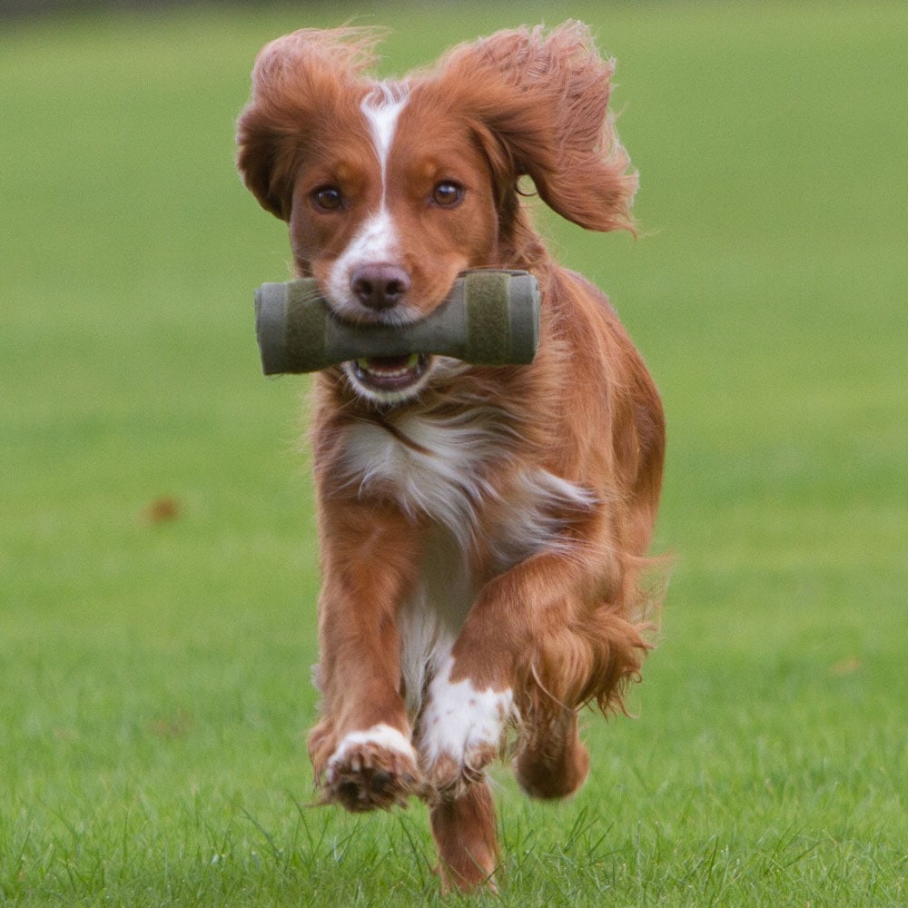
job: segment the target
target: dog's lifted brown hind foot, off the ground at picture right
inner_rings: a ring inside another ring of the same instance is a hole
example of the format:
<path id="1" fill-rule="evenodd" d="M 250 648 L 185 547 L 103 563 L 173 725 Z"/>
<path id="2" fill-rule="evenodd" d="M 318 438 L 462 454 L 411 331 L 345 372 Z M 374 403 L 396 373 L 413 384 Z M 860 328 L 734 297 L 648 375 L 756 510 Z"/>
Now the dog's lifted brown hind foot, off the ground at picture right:
<path id="1" fill-rule="evenodd" d="M 567 708 L 545 728 L 530 726 L 514 760 L 520 787 L 547 800 L 575 794 L 588 771 L 589 754 L 580 740 L 577 713 Z"/>

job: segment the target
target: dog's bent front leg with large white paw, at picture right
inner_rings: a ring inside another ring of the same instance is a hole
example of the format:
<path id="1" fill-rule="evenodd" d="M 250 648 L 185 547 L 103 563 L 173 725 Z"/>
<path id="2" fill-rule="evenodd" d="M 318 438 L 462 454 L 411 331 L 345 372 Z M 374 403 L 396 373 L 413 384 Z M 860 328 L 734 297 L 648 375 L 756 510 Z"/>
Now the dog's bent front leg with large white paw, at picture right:
<path id="1" fill-rule="evenodd" d="M 591 674 L 607 672 L 607 666 L 583 656 L 590 648 L 584 625 L 595 598 L 595 569 L 593 559 L 579 553 L 547 552 L 483 587 L 447 662 L 429 684 L 420 716 L 419 755 L 429 785 L 440 792 L 463 791 L 501 752 L 509 723 L 539 721 L 538 715 L 521 713 L 535 706 L 529 687 L 542 690 L 540 663 L 558 666 L 559 676 L 543 692 L 555 707 L 553 716 L 585 694 Z M 607 641 L 603 650 L 607 653 Z"/>

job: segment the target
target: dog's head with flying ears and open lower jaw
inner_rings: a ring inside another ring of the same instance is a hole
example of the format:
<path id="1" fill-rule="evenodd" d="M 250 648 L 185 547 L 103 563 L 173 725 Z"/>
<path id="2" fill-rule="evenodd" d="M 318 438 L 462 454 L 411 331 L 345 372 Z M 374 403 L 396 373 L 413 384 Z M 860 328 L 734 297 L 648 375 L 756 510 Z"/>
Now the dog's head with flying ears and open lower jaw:
<path id="1" fill-rule="evenodd" d="M 246 185 L 289 223 L 297 271 L 340 318 L 415 321 L 459 271 L 538 265 L 524 175 L 570 221 L 632 226 L 637 175 L 607 116 L 612 65 L 585 26 L 500 32 L 400 82 L 366 74 L 379 36 L 304 29 L 266 45 L 239 121 Z M 354 390 L 388 403 L 417 394 L 438 365 L 343 368 Z"/>

